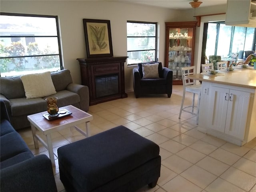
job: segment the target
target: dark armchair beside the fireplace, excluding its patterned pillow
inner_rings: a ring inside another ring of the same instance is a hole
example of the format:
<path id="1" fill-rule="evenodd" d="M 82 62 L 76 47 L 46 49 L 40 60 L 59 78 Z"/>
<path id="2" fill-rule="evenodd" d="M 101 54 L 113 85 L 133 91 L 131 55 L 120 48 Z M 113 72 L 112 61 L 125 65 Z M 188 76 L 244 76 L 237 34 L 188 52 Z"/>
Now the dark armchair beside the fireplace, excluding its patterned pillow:
<path id="1" fill-rule="evenodd" d="M 142 65 L 156 63 L 159 63 L 159 78 L 143 78 Z M 138 68 L 133 69 L 133 88 L 136 98 L 144 94 L 167 94 L 170 98 L 172 94 L 172 70 L 162 67 L 161 62 L 138 63 Z"/>

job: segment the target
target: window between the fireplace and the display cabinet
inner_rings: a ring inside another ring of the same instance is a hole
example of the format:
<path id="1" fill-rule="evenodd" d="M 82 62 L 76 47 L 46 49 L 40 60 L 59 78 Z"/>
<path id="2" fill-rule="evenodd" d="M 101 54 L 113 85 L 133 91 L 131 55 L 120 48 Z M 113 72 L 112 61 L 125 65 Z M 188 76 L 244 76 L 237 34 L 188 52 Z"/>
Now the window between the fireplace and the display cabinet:
<path id="1" fill-rule="evenodd" d="M 127 63 L 156 61 L 156 24 L 127 21 Z"/>

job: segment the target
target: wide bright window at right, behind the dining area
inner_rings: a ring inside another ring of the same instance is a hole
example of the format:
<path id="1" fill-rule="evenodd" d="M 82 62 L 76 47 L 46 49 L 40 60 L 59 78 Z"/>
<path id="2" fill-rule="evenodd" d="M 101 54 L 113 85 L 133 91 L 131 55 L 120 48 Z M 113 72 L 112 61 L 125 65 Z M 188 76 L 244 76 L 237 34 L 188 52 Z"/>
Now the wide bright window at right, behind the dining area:
<path id="1" fill-rule="evenodd" d="M 255 50 L 256 28 L 226 26 L 224 22 L 208 23 L 206 56 L 228 57 L 232 53 Z"/>

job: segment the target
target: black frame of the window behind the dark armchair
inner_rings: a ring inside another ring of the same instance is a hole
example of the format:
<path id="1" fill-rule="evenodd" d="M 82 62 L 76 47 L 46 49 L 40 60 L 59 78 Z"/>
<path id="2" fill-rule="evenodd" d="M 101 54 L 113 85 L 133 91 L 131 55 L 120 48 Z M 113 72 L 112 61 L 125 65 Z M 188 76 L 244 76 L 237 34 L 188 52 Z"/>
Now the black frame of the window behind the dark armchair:
<path id="1" fill-rule="evenodd" d="M 154 61 L 157 61 L 157 22 L 144 22 L 144 21 L 132 21 L 132 20 L 127 20 L 126 24 L 127 23 L 140 23 L 140 24 L 154 24 L 155 25 L 155 36 L 127 36 L 127 41 L 128 41 L 128 38 L 155 38 L 155 48 L 154 49 L 142 49 L 142 50 L 130 50 L 128 51 L 127 49 L 127 55 L 128 55 L 128 52 L 140 52 L 140 51 L 152 51 L 154 50 L 155 52 L 155 58 L 154 58 Z M 126 29 L 127 31 L 127 29 Z M 132 64 L 128 64 L 127 62 L 127 66 L 134 66 L 138 63 L 132 63 Z"/>

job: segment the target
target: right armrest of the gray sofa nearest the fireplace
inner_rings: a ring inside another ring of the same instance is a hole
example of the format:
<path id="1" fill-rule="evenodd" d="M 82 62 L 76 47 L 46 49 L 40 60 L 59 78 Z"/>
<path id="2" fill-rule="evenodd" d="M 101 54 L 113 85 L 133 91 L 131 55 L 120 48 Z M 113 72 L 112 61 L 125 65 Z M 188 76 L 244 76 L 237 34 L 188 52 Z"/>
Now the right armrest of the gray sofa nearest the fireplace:
<path id="1" fill-rule="evenodd" d="M 80 109 L 85 112 L 88 112 L 89 100 L 90 100 L 88 86 L 84 86 L 84 85 L 80 85 L 80 84 L 76 84 L 76 83 L 70 83 L 67 86 L 67 90 L 74 92 L 80 96 Z"/>

